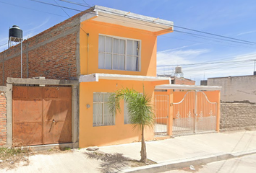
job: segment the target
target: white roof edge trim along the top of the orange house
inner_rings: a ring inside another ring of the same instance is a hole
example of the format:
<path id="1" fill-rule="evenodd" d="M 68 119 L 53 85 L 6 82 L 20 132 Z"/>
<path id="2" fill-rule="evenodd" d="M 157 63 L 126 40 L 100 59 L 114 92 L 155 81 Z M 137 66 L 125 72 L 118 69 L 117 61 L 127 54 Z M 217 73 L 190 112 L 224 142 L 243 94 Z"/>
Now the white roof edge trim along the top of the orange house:
<path id="1" fill-rule="evenodd" d="M 129 19 L 137 19 L 144 22 L 151 22 L 158 25 L 166 25 L 168 27 L 172 27 L 172 30 L 174 30 L 174 22 L 168 21 L 165 19 L 158 19 L 155 17 L 143 16 L 143 15 L 135 14 L 132 12 L 125 12 L 119 9 L 111 9 L 105 6 L 98 6 L 98 5 L 94 6 L 94 12 L 102 12 L 102 13 L 112 14 L 120 17 L 127 17 Z"/>

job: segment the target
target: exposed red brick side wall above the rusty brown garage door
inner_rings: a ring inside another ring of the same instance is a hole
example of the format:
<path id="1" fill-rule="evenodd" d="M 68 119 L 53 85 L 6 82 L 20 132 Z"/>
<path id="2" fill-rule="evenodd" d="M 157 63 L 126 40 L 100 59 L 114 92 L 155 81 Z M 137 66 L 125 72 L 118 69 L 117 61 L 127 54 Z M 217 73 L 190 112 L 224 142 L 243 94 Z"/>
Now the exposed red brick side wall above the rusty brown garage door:
<path id="1" fill-rule="evenodd" d="M 22 77 L 44 76 L 46 79 L 78 79 L 80 74 L 80 16 L 41 32 L 22 43 Z M 7 77 L 20 78 L 20 44 L 0 53 L 0 85 Z"/>

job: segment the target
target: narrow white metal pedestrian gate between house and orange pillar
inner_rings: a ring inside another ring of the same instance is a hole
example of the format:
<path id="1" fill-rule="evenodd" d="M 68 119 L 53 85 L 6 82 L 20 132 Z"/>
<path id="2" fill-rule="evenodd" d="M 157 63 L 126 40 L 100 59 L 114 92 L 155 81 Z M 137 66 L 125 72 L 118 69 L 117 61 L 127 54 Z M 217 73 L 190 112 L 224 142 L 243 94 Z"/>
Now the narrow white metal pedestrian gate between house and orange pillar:
<path id="1" fill-rule="evenodd" d="M 155 95 L 155 136 L 166 136 L 168 129 L 169 96 Z"/>

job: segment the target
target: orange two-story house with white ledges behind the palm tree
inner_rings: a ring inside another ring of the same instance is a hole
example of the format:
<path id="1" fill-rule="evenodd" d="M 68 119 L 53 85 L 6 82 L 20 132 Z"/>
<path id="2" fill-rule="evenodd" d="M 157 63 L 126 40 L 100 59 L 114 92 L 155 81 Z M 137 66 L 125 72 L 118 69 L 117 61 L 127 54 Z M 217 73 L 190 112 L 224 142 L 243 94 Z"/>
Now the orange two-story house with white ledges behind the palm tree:
<path id="1" fill-rule="evenodd" d="M 173 31 L 173 22 L 95 6 L 81 17 L 80 29 L 80 147 L 140 141 L 132 130 L 124 103 L 113 117 L 108 95 L 133 88 L 151 97 L 155 85 L 169 84 L 156 77 L 157 36 Z M 154 138 L 153 129 L 145 138 Z"/>

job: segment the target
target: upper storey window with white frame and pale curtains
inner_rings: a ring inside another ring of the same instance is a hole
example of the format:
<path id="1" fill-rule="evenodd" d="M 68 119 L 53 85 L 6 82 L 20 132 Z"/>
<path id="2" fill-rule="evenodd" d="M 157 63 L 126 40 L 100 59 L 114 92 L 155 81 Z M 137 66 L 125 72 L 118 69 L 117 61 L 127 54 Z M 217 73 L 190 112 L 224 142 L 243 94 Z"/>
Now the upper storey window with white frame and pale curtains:
<path id="1" fill-rule="evenodd" d="M 99 35 L 98 68 L 140 71 L 140 41 Z"/>

